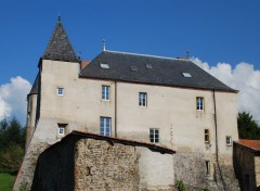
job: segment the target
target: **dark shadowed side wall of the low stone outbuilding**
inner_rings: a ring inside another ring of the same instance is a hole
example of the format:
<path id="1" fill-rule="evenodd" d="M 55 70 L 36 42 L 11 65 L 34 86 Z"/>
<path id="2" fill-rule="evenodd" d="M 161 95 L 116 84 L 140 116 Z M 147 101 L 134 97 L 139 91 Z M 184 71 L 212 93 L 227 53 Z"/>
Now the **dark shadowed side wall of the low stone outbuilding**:
<path id="1" fill-rule="evenodd" d="M 31 191 L 74 190 L 74 148 L 68 139 L 46 150 L 38 158 Z"/>

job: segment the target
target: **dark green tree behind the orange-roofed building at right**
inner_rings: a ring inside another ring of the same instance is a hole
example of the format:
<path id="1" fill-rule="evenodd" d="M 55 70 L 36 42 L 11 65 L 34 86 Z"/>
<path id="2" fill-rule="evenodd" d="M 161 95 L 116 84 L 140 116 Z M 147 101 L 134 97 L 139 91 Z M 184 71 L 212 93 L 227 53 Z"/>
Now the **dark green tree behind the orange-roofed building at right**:
<path id="1" fill-rule="evenodd" d="M 239 139 L 260 140 L 260 127 L 249 113 L 238 114 L 237 126 Z"/>

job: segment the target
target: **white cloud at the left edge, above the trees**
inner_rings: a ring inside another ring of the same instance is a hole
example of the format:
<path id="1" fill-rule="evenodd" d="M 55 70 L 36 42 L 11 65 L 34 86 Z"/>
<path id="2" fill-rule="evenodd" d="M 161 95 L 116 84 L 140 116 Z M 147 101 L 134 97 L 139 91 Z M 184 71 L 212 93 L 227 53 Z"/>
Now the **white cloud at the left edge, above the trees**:
<path id="1" fill-rule="evenodd" d="M 26 97 L 31 85 L 21 76 L 0 85 L 0 120 L 15 116 L 23 125 L 26 120 Z"/>

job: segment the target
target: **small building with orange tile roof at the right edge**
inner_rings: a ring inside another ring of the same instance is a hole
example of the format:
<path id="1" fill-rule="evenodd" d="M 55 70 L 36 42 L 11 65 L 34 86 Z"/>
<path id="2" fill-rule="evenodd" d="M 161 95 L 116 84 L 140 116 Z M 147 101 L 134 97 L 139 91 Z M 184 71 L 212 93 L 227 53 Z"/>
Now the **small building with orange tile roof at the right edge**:
<path id="1" fill-rule="evenodd" d="M 242 191 L 260 190 L 260 141 L 235 141 L 234 162 Z"/>

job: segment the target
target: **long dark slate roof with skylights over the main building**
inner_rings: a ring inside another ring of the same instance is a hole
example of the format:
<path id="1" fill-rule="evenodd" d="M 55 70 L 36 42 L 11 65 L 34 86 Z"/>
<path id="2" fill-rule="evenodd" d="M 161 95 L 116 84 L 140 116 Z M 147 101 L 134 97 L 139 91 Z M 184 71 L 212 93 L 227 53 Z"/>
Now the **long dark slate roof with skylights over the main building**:
<path id="1" fill-rule="evenodd" d="M 102 68 L 100 64 L 108 64 Z M 186 78 L 182 73 L 190 73 Z M 237 92 L 190 60 L 102 51 L 81 73 L 81 77 L 159 86 Z"/>

